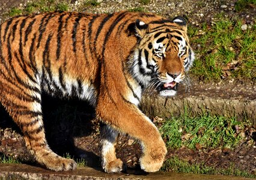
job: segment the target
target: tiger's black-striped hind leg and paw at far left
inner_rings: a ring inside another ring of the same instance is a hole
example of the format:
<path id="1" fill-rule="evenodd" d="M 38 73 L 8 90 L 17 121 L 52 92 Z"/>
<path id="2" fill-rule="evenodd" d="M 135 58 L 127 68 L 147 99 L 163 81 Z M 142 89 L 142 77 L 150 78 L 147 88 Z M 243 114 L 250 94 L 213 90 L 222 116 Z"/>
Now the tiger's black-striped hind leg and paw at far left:
<path id="1" fill-rule="evenodd" d="M 19 84 L 11 84 L 0 76 L 0 88 L 0 101 L 21 128 L 26 147 L 35 156 L 35 160 L 50 170 L 75 169 L 75 161 L 60 157 L 47 145 L 41 112 L 40 86 L 24 88 Z"/>

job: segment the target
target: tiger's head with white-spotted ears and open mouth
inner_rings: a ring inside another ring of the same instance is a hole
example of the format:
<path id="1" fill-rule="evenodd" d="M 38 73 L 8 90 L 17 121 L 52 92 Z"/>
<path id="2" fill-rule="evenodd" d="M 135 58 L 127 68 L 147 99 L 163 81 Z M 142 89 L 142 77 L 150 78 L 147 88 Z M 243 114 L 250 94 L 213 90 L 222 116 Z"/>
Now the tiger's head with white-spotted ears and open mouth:
<path id="1" fill-rule="evenodd" d="M 162 96 L 175 95 L 194 61 L 186 20 L 175 17 L 148 24 L 136 20 L 135 35 L 138 38 L 132 65 L 135 79 L 156 86 Z"/>

